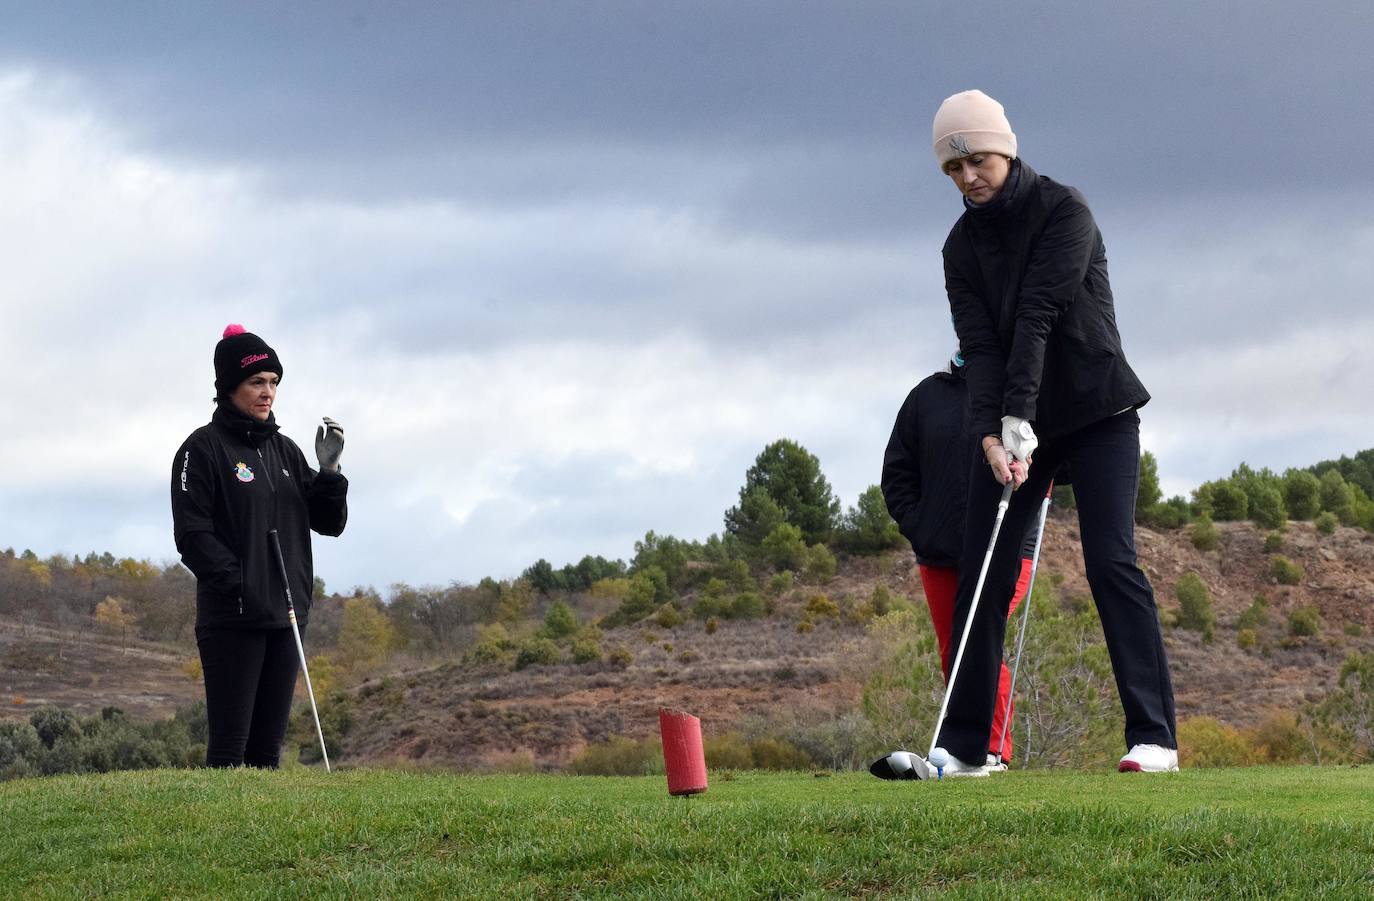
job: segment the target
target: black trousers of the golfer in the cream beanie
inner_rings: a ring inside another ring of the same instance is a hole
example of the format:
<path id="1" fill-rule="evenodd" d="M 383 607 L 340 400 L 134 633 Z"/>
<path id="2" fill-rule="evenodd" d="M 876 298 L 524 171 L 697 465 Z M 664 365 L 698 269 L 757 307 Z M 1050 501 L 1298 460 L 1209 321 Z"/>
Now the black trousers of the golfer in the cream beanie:
<path id="1" fill-rule="evenodd" d="M 1140 418 L 1135 411 L 1127 411 L 1040 445 L 1029 478 L 1011 494 L 937 742 L 959 760 L 981 762 L 987 754 L 1007 607 L 1021 570 L 1021 536 L 1039 514 L 1050 479 L 1065 461 L 1069 463 L 1079 508 L 1088 586 L 1102 618 L 1125 711 L 1125 744 L 1178 747 L 1173 683 L 1169 680 L 1154 592 L 1136 566 Z M 962 635 L 969 619 L 973 589 L 988 551 L 1000 497 L 1002 486 L 980 455 L 969 477 L 965 547 L 954 611 L 956 636 Z"/>

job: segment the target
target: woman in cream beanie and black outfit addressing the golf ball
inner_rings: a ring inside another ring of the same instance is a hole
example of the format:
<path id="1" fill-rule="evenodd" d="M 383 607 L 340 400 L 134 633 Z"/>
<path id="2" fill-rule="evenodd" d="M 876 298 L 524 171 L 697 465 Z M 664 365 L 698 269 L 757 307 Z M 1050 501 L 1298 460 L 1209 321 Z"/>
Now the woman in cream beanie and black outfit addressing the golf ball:
<path id="1" fill-rule="evenodd" d="M 1021 161 L 1006 111 L 981 91 L 940 104 L 932 141 L 963 195 L 944 244 L 945 291 L 981 435 L 981 455 L 970 460 L 956 635 L 982 569 L 980 536 L 992 534 L 1003 485 L 1017 488 L 937 743 L 955 769 L 984 760 L 1020 571 L 1015 536 L 1068 464 L 1088 586 L 1125 713 L 1129 751 L 1118 769 L 1178 769 L 1173 685 L 1154 592 L 1135 554 L 1136 409 L 1150 394 L 1121 349 L 1102 233 L 1077 190 Z"/>

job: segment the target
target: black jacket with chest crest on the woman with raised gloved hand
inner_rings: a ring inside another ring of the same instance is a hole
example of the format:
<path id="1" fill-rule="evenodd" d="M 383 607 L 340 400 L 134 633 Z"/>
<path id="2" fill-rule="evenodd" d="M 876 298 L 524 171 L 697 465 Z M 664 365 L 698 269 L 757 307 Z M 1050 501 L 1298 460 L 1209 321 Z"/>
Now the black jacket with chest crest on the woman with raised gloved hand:
<path id="1" fill-rule="evenodd" d="M 196 633 L 286 628 L 286 595 L 268 530 L 276 529 L 304 625 L 315 588 L 311 529 L 337 536 L 348 522 L 348 479 L 316 472 L 273 418 L 221 404 L 172 461 L 172 526 L 195 574 Z"/>

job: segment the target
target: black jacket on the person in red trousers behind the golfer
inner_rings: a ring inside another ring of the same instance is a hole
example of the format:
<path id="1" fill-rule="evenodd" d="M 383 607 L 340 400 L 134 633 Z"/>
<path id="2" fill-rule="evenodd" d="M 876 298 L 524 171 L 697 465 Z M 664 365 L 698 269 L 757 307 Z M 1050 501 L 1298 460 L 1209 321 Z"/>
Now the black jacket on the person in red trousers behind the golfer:
<path id="1" fill-rule="evenodd" d="M 911 389 L 882 455 L 888 512 L 925 566 L 958 566 L 963 552 L 969 467 L 978 455 L 978 438 L 969 429 L 966 371 L 967 365 L 936 372 Z M 1057 479 L 1068 483 L 1068 467 Z M 1021 543 L 1025 559 L 1035 556 L 1036 525 L 1028 526 Z"/>

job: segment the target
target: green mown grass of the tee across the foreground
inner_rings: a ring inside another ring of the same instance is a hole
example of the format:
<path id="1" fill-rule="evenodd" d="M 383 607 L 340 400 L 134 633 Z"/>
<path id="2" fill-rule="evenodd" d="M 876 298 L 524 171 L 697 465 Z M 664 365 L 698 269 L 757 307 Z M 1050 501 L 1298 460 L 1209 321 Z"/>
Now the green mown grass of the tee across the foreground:
<path id="1" fill-rule="evenodd" d="M 1374 768 L 0 783 L 0 897 L 1369 898 Z"/>

